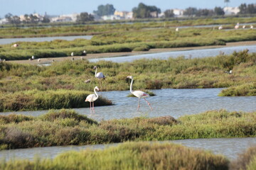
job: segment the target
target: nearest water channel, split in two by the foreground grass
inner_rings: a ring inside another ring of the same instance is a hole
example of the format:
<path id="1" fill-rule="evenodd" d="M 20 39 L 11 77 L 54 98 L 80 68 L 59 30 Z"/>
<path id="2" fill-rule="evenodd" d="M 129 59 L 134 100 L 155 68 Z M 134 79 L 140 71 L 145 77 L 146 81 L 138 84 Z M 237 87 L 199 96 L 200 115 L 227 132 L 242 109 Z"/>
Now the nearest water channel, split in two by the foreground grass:
<path id="1" fill-rule="evenodd" d="M 186 147 L 196 149 L 210 150 L 214 154 L 223 154 L 228 159 L 236 159 L 238 154 L 242 153 L 248 147 L 256 145 L 256 137 L 241 138 L 213 138 L 213 139 L 196 139 L 196 140 L 171 140 L 164 142 L 174 142 Z M 50 158 L 53 159 L 58 154 L 68 151 L 80 151 L 84 149 L 105 149 L 106 147 L 116 146 L 110 145 L 84 145 L 84 146 L 65 146 L 65 147 L 35 147 L 28 149 L 11 149 L 0 151 L 1 159 L 30 159 L 34 158 Z"/>

